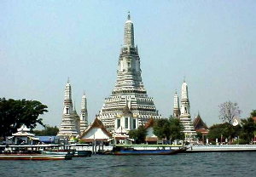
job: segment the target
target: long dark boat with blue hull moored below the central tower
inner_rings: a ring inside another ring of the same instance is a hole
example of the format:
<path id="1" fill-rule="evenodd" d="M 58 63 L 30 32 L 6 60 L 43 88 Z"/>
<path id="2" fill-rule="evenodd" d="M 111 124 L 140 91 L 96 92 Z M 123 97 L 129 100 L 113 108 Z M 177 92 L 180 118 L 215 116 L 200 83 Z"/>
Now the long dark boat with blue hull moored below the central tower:
<path id="1" fill-rule="evenodd" d="M 177 154 L 183 151 L 186 151 L 186 147 L 182 147 L 179 149 L 146 149 L 146 150 L 141 150 L 141 149 L 135 149 L 132 147 L 125 147 L 125 146 L 114 146 L 112 153 L 108 154 L 113 154 L 113 155 L 172 155 L 172 154 Z"/>

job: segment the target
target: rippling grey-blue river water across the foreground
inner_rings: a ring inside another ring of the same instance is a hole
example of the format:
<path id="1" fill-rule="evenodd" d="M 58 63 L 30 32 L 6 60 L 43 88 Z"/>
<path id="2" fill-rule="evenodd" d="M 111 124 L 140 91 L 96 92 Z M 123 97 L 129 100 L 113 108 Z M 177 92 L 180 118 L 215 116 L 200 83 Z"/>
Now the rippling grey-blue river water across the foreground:
<path id="1" fill-rule="evenodd" d="M 70 161 L 0 161 L 0 176 L 256 176 L 256 152 L 172 156 L 73 157 Z"/>

